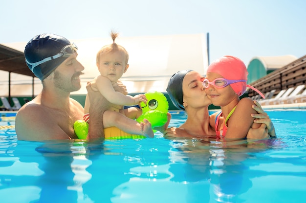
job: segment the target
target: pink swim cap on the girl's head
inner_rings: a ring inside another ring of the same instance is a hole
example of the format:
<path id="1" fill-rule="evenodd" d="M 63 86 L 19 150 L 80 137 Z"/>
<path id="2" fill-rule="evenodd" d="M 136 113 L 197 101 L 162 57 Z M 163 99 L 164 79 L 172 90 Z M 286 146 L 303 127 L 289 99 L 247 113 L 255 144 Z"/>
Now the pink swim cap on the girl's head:
<path id="1" fill-rule="evenodd" d="M 210 72 L 220 74 L 222 75 L 222 77 L 228 80 L 245 80 L 245 82 L 236 82 L 230 84 L 231 88 L 239 96 L 241 96 L 248 87 L 258 92 L 262 96 L 262 98 L 264 98 L 262 92 L 246 84 L 248 75 L 247 69 L 244 63 L 235 56 L 225 55 L 215 60 L 208 66 L 207 73 Z"/>

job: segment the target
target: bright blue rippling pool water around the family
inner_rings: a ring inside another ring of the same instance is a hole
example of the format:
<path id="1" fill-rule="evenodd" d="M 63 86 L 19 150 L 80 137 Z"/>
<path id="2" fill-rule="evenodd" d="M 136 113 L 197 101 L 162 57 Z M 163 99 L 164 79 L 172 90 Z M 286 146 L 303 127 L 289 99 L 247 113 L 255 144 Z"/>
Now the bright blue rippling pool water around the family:
<path id="1" fill-rule="evenodd" d="M 18 141 L 0 121 L 1 203 L 301 203 L 306 111 L 267 111 L 277 139 Z M 173 114 L 170 126 L 185 117 Z"/>

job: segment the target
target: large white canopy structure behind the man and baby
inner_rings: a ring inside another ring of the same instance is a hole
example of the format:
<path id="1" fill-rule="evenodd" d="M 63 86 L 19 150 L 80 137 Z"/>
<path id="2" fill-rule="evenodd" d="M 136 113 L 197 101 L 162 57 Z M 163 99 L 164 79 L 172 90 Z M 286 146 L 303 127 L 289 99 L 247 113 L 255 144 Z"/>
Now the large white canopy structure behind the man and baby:
<path id="1" fill-rule="evenodd" d="M 86 83 L 99 74 L 96 53 L 112 43 L 108 38 L 69 39 L 78 46 L 78 60 L 84 65 L 82 88 L 72 94 L 86 94 Z M 27 42 L 4 43 L 3 45 L 24 51 Z M 191 69 L 204 74 L 208 66 L 206 37 L 204 34 L 118 37 L 116 43 L 129 52 L 130 67 L 121 78 L 129 93 L 158 91 L 166 92 L 170 77 L 180 70 Z M 42 90 L 41 82 L 34 79 L 34 95 Z M 8 95 L 8 73 L 0 72 L 1 95 Z M 32 95 L 32 77 L 11 74 L 11 95 Z"/>

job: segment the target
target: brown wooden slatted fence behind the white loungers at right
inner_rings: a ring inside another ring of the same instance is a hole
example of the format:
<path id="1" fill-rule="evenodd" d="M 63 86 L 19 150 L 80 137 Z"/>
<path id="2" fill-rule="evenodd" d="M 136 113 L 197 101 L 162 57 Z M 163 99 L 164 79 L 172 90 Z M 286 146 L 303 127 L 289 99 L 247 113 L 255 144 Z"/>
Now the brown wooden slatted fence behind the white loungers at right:
<path id="1" fill-rule="evenodd" d="M 263 94 L 275 90 L 274 95 L 276 95 L 281 90 L 302 84 L 306 84 L 306 55 L 252 82 L 250 85 Z M 256 94 L 258 93 L 249 89 L 249 97 Z"/>

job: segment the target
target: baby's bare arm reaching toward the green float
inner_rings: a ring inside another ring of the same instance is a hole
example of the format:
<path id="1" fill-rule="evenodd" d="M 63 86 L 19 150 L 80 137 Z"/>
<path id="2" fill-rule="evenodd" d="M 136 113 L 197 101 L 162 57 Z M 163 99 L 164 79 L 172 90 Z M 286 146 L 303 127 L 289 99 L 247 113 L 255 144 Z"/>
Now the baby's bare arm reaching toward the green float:
<path id="1" fill-rule="evenodd" d="M 147 102 L 143 94 L 138 94 L 134 97 L 124 95 L 120 92 L 115 92 L 109 78 L 99 75 L 93 81 L 99 92 L 112 104 L 132 106 L 139 102 Z"/>

